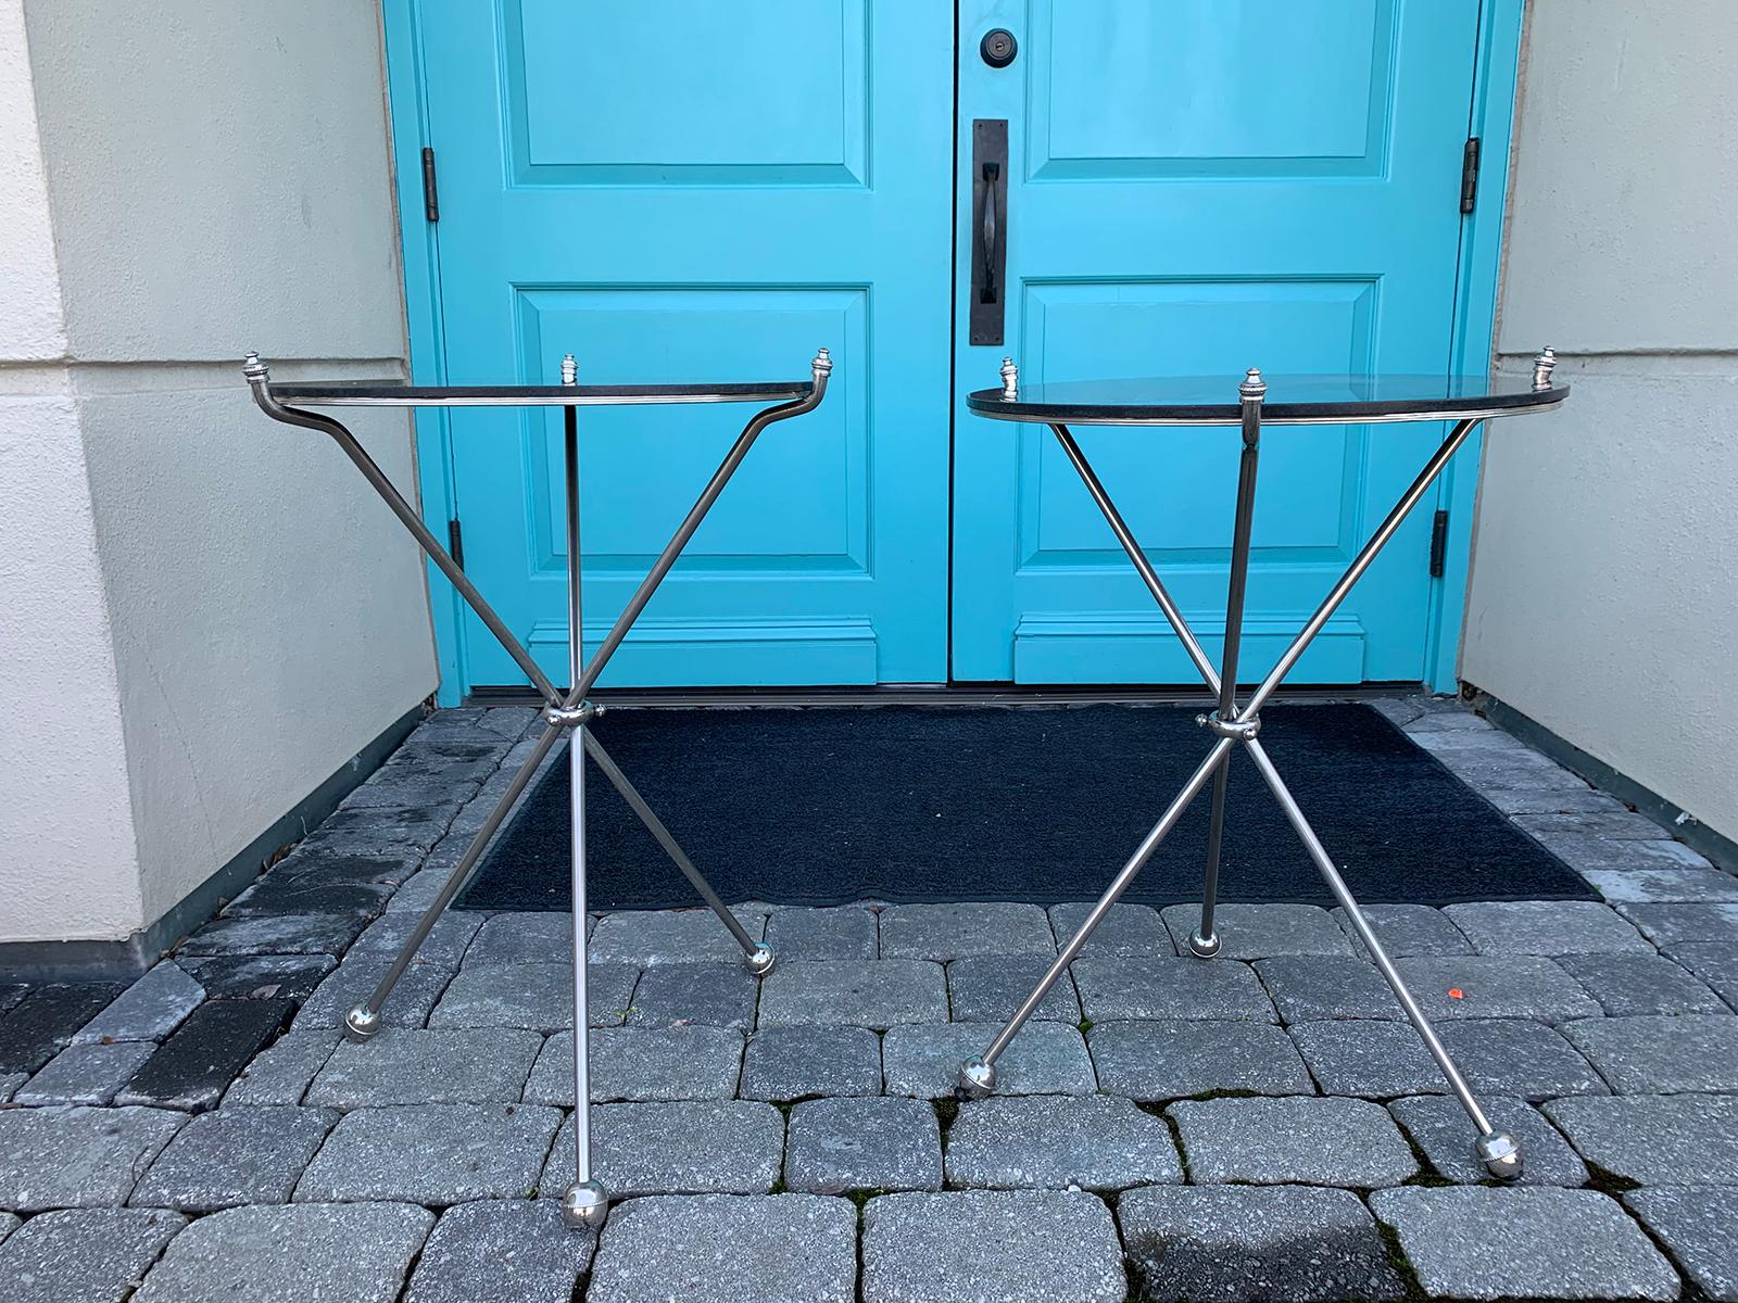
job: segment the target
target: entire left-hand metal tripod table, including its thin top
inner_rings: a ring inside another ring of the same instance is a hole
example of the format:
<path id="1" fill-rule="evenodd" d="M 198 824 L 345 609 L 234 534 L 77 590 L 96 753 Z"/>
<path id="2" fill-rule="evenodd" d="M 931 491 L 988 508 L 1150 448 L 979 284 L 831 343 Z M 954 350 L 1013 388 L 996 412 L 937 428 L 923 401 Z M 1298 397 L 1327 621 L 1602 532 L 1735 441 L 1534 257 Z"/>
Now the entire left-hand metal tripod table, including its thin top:
<path id="1" fill-rule="evenodd" d="M 513 780 L 507 784 L 506 792 L 502 792 L 501 801 L 483 820 L 476 837 L 466 848 L 457 867 L 452 870 L 452 876 L 441 884 L 440 893 L 410 931 L 408 940 L 393 959 L 374 994 L 363 1004 L 351 1009 L 344 1018 L 344 1029 L 351 1039 L 367 1041 L 381 1029 L 381 1006 L 386 1002 L 386 997 L 391 995 L 398 978 L 403 976 L 405 966 L 415 956 L 417 949 L 421 949 L 440 916 L 454 902 L 459 891 L 464 890 L 464 884 L 476 870 L 483 851 L 488 850 L 488 844 L 501 829 L 502 820 L 506 820 L 507 811 L 513 810 L 513 804 L 532 780 L 532 775 L 537 773 L 544 757 L 554 749 L 556 740 L 563 733 L 572 733 L 572 742 L 568 745 L 568 784 L 572 789 L 574 810 L 570 825 L 575 1030 L 574 1185 L 570 1185 L 567 1194 L 561 1197 L 561 1216 L 570 1227 L 601 1227 L 608 1213 L 608 1194 L 591 1174 L 591 1072 L 586 1037 L 586 1027 L 589 1025 L 586 1009 L 586 756 L 591 756 L 593 763 L 596 763 L 615 790 L 622 794 L 622 799 L 627 801 L 633 811 L 641 818 L 688 883 L 693 884 L 693 890 L 700 895 L 700 898 L 706 900 L 723 926 L 730 929 L 737 945 L 742 947 L 744 962 L 749 973 L 765 976 L 773 968 L 772 949 L 749 936 L 730 909 L 725 907 L 725 902 L 718 898 L 718 893 L 711 888 L 700 870 L 695 869 L 693 862 L 687 857 L 687 853 L 683 853 L 669 829 L 664 827 L 664 822 L 652 811 L 652 806 L 645 803 L 615 761 L 610 759 L 608 752 L 593 731 L 586 728 L 587 721 L 601 709 L 589 702 L 586 695 L 598 681 L 598 676 L 603 674 L 605 667 L 610 664 L 610 657 L 614 657 L 617 648 L 620 648 L 622 639 L 627 638 L 634 620 L 640 618 L 647 603 L 652 601 L 652 594 L 657 592 L 659 584 L 664 582 L 671 566 L 676 565 L 676 559 L 688 546 L 693 532 L 700 526 L 700 521 L 706 519 L 706 513 L 711 511 L 718 495 L 723 493 L 725 485 L 730 483 L 730 478 L 742 464 L 742 459 L 747 457 L 749 448 L 754 446 L 760 434 L 777 420 L 789 420 L 820 407 L 820 400 L 826 398 L 827 393 L 827 375 L 831 370 L 833 361 L 827 349 L 820 349 L 815 354 L 810 363 L 808 380 L 775 384 L 579 384 L 574 354 L 568 354 L 561 361 L 561 384 L 417 386 L 398 380 L 297 380 L 289 384 L 273 384 L 271 372 L 266 363 L 259 360 L 257 353 L 249 353 L 242 368 L 254 389 L 254 401 L 259 403 L 266 415 L 289 426 L 318 429 L 323 434 L 330 434 L 332 440 L 337 441 L 339 448 L 344 450 L 344 455 L 356 464 L 356 469 L 362 471 L 368 485 L 374 486 L 374 492 L 384 499 L 386 506 L 391 507 L 393 514 L 398 516 L 400 523 L 410 532 L 428 558 L 448 580 L 452 580 L 459 596 L 464 598 L 471 610 L 476 612 L 478 618 L 481 618 L 488 631 L 501 641 L 502 648 L 506 648 L 507 655 L 513 657 L 518 667 L 525 672 L 525 678 L 530 679 L 532 686 L 544 700 L 544 731 L 539 735 L 530 756 L 513 775 Z M 713 478 L 706 483 L 706 488 L 700 490 L 693 507 L 688 509 L 681 525 L 676 526 L 676 533 L 671 535 L 671 540 L 664 546 L 664 551 L 659 552 L 652 568 L 647 572 L 647 577 L 640 582 L 640 587 L 634 589 L 633 596 L 627 599 L 622 613 L 610 625 L 603 643 L 591 655 L 591 660 L 586 660 L 580 632 L 577 410 L 580 407 L 648 403 L 772 403 L 772 407 L 763 407 L 754 413 L 747 426 L 742 427 L 742 433 L 737 436 L 735 443 L 730 445 L 730 450 L 718 464 Z M 374 459 L 368 457 L 362 443 L 356 441 L 356 436 L 334 417 L 306 410 L 309 407 L 561 408 L 567 490 L 568 617 L 568 688 L 565 691 L 556 688 L 549 676 L 544 674 L 542 667 L 539 667 L 532 658 L 525 645 L 513 636 L 501 615 L 497 615 L 483 594 L 478 592 L 476 585 L 466 577 L 464 570 L 459 568 L 459 563 L 454 561 L 452 554 L 440 546 L 428 525 L 422 523 L 417 509 L 412 507 L 410 502 L 407 502 L 405 497 L 393 486 L 386 473 L 381 471 Z"/>

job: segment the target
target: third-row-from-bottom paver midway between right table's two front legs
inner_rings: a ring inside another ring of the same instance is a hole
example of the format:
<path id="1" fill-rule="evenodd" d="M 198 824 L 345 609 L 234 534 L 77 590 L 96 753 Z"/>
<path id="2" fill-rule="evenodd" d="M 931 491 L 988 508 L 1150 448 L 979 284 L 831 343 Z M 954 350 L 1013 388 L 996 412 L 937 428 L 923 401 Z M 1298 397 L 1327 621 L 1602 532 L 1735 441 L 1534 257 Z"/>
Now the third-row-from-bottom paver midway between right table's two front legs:
<path id="1" fill-rule="evenodd" d="M 1098 1089 L 1133 1100 L 1316 1093 L 1291 1037 L 1270 1023 L 1097 1023 L 1086 1042 Z"/>

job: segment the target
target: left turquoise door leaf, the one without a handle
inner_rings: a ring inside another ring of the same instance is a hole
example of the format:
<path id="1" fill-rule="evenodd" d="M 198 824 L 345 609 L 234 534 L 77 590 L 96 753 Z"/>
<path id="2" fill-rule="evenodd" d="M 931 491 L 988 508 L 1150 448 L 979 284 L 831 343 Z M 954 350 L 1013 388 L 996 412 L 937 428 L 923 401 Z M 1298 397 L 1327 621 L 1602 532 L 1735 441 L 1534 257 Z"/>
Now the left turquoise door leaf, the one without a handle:
<path id="1" fill-rule="evenodd" d="M 806 377 L 605 685 L 945 676 L 952 16 L 429 5 L 450 382 Z M 871 122 L 871 104 L 874 115 Z M 753 408 L 579 413 L 600 639 Z M 565 681 L 560 415 L 448 413 L 466 568 Z M 520 683 L 468 617 L 466 678 Z"/>

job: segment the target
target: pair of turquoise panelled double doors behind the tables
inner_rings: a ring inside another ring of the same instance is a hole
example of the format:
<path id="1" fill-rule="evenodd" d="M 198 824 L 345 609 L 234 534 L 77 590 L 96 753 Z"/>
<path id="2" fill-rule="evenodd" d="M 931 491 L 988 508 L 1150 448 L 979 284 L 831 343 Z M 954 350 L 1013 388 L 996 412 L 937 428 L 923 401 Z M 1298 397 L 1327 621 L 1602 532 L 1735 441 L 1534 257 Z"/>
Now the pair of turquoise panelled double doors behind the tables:
<path id="1" fill-rule="evenodd" d="M 994 28 L 1018 45 L 1003 68 Z M 1477 30 L 1477 0 L 389 0 L 400 167 L 429 144 L 440 174 L 419 375 L 553 380 L 574 353 L 594 382 L 733 380 L 833 349 L 826 407 L 754 448 L 608 685 L 1192 683 L 1048 434 L 963 394 L 1003 354 L 1027 380 L 1227 393 L 1251 365 L 1449 370 Z M 982 346 L 977 120 L 1008 139 L 1003 342 Z M 580 413 L 587 638 L 746 417 Z M 466 568 L 563 676 L 556 419 L 422 429 Z M 1246 676 L 1436 438 L 1269 436 Z M 1081 441 L 1215 643 L 1236 440 Z M 1432 678 L 1432 506 L 1295 681 Z M 521 681 L 464 612 L 443 650 L 459 688 Z"/>

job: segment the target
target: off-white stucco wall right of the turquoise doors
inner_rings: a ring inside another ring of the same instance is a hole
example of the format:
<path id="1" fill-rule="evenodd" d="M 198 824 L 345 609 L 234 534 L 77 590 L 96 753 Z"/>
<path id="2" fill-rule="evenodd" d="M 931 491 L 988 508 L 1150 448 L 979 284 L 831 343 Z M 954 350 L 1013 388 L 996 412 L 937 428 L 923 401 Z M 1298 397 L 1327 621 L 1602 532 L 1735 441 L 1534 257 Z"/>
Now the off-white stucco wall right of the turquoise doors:
<path id="1" fill-rule="evenodd" d="M 1738 7 L 1535 0 L 1462 678 L 1738 837 Z"/>

